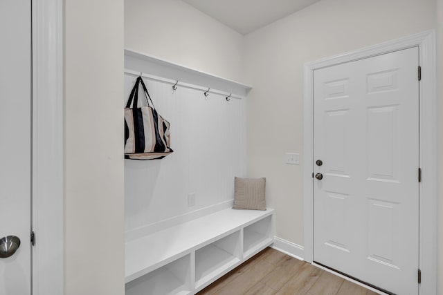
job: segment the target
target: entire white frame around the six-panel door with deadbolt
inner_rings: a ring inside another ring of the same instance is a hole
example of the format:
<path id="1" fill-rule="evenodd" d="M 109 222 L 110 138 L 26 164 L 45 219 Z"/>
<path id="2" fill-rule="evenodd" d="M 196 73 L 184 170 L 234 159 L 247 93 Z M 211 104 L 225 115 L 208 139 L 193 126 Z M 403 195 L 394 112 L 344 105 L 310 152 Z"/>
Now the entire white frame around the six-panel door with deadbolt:
<path id="1" fill-rule="evenodd" d="M 384 53 L 419 46 L 419 64 L 422 66 L 420 95 L 420 153 L 422 182 L 419 184 L 419 267 L 422 283 L 419 294 L 437 292 L 437 101 L 435 97 L 435 31 L 430 30 L 383 44 L 370 46 L 350 53 L 328 57 L 305 64 L 304 94 L 304 240 L 305 260 L 312 263 L 314 249 L 314 206 L 313 206 L 313 73 L 318 68 L 334 66 L 349 61 L 373 57 Z"/>

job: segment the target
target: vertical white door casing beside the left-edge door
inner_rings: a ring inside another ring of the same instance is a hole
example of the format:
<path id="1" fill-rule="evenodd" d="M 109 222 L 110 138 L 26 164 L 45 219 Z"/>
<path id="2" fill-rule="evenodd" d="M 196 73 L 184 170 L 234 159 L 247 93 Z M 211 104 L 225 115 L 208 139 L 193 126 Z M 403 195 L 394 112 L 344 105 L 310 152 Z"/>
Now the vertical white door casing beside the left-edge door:
<path id="1" fill-rule="evenodd" d="M 64 294 L 63 0 L 33 5 L 33 294 Z"/>

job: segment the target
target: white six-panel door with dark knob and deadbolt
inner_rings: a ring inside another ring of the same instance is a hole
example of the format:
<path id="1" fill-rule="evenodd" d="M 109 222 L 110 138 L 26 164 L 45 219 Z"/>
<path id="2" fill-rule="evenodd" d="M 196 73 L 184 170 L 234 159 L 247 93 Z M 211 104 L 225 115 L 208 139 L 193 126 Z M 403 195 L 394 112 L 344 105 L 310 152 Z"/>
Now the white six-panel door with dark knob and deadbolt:
<path id="1" fill-rule="evenodd" d="M 415 47 L 314 70 L 314 261 L 401 295 L 419 289 L 418 66 Z"/>

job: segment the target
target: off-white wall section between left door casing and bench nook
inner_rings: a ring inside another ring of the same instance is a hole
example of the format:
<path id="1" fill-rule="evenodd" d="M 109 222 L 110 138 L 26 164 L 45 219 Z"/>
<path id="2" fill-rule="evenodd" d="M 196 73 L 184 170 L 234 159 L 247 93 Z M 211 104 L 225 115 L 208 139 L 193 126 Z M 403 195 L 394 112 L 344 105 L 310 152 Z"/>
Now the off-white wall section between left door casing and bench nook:
<path id="1" fill-rule="evenodd" d="M 64 4 L 64 293 L 122 295 L 123 0 Z"/>

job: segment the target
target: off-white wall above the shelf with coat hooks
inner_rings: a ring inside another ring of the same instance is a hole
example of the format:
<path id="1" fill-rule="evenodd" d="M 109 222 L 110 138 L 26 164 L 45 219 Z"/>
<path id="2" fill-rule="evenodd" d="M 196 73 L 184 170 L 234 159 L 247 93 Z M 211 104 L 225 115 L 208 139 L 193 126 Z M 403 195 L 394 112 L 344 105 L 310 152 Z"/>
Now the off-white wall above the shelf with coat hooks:
<path id="1" fill-rule="evenodd" d="M 125 0 L 125 48 L 242 79 L 242 35 L 181 0 Z"/>

